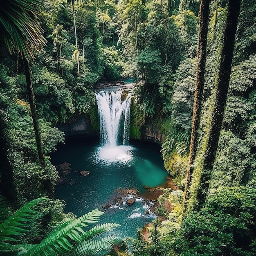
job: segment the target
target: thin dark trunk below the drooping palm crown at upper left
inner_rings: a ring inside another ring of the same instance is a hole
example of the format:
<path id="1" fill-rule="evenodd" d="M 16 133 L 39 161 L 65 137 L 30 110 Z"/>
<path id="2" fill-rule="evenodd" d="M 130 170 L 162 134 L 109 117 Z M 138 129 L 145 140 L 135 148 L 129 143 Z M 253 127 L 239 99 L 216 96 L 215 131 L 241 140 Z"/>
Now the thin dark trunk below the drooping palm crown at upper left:
<path id="1" fill-rule="evenodd" d="M 45 158 L 43 153 L 41 135 L 40 135 L 40 130 L 39 130 L 38 121 L 36 117 L 36 101 L 35 101 L 34 88 L 31 83 L 31 72 L 29 68 L 29 62 L 25 58 L 23 62 L 24 62 L 26 83 L 27 83 L 27 95 L 29 98 L 29 105 L 31 109 L 31 115 L 32 115 L 33 125 L 34 125 L 34 130 L 36 135 L 36 147 L 38 152 L 38 159 L 39 159 L 40 165 L 45 167 Z"/>

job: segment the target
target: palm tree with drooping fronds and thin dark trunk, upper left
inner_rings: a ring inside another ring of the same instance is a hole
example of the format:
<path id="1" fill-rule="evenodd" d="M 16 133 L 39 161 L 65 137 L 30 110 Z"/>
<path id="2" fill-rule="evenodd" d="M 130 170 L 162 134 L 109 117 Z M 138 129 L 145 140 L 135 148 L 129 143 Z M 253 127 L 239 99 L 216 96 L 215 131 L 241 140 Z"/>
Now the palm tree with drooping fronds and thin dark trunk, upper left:
<path id="1" fill-rule="evenodd" d="M 34 89 L 31 84 L 29 60 L 34 59 L 34 50 L 40 50 L 45 45 L 45 38 L 40 27 L 38 7 L 40 0 L 5 0 L 0 5 L 0 40 L 4 41 L 11 53 L 21 56 L 27 82 L 27 94 L 36 136 L 36 146 L 40 164 L 45 167 L 45 159 L 41 142 Z"/>

